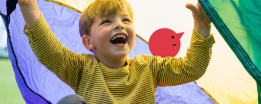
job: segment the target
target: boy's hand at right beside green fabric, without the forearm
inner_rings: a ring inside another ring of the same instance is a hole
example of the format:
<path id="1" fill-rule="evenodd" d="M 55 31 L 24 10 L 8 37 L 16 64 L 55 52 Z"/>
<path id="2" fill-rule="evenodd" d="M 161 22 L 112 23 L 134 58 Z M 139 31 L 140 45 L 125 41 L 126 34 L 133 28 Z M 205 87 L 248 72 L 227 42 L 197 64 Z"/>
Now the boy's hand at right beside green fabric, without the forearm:
<path id="1" fill-rule="evenodd" d="M 192 4 L 187 4 L 186 8 L 192 12 L 194 22 L 200 23 L 202 25 L 210 25 L 211 21 L 209 20 L 207 14 L 199 2 L 195 6 Z"/>

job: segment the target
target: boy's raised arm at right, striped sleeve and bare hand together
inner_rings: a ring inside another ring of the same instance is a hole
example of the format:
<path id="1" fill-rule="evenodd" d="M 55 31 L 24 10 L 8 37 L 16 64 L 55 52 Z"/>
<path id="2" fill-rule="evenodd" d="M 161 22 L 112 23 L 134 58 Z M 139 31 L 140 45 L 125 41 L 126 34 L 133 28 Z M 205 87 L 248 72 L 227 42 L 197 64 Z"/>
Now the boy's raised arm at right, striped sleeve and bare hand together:
<path id="1" fill-rule="evenodd" d="M 213 35 L 211 21 L 198 3 L 187 4 L 194 18 L 194 30 L 190 46 L 184 58 L 153 57 L 150 68 L 157 86 L 176 86 L 198 80 L 206 71 L 211 59 Z"/>

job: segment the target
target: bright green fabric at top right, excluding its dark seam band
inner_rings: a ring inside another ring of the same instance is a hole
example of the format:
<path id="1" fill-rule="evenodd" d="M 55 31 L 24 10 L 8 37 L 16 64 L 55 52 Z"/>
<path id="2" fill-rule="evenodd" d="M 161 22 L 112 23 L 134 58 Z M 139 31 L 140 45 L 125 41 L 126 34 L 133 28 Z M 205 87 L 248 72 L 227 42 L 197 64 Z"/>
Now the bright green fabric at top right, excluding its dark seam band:
<path id="1" fill-rule="evenodd" d="M 250 59 L 261 69 L 261 1 L 209 0 Z"/>

